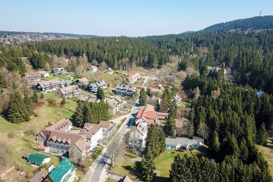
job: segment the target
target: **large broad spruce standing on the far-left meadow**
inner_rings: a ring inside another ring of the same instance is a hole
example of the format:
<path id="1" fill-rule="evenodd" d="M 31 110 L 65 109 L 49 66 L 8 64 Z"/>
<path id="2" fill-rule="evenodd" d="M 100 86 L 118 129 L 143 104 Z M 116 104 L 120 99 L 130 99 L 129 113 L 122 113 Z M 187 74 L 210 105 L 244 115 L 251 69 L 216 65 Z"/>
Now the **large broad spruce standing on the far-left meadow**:
<path id="1" fill-rule="evenodd" d="M 8 119 L 12 123 L 21 123 L 30 120 L 22 96 L 17 91 L 10 95 L 8 102 Z"/>

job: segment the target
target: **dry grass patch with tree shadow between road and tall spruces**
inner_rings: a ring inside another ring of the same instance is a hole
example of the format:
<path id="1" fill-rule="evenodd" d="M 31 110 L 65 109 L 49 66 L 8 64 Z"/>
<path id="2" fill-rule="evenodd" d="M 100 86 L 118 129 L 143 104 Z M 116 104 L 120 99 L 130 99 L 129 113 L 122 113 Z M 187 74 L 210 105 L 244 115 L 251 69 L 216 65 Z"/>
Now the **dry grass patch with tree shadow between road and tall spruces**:
<path id="1" fill-rule="evenodd" d="M 140 167 L 140 162 L 125 162 L 116 160 L 114 163 L 114 170 L 113 172 L 120 175 L 125 176 L 128 175 L 133 180 L 137 179 L 138 176 L 138 169 Z"/>

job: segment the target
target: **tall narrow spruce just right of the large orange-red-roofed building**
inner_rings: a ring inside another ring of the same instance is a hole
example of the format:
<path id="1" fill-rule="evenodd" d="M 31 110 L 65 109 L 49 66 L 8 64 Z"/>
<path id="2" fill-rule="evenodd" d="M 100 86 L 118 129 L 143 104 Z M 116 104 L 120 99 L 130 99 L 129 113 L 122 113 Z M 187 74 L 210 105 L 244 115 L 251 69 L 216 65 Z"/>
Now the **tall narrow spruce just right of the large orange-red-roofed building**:
<path id="1" fill-rule="evenodd" d="M 177 105 L 175 100 L 173 100 L 170 106 L 170 112 L 166 121 L 166 131 L 169 134 L 169 136 L 172 136 L 172 137 L 175 135 L 176 115 L 177 115 Z"/>

